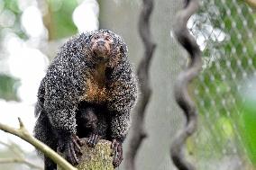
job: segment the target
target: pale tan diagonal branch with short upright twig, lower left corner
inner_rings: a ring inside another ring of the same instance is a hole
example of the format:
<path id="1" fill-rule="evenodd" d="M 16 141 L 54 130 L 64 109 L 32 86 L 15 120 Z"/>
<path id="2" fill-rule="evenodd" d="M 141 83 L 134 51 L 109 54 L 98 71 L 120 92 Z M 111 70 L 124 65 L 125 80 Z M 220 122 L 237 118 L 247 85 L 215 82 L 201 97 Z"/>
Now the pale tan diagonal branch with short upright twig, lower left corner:
<path id="1" fill-rule="evenodd" d="M 43 144 L 40 140 L 35 139 L 30 135 L 28 130 L 25 129 L 23 121 L 19 118 L 20 129 L 14 129 L 8 125 L 0 123 L 0 130 L 4 130 L 7 133 L 11 133 L 27 142 L 32 144 L 35 148 L 39 149 L 45 156 L 50 157 L 56 164 L 58 164 L 64 170 L 77 170 L 74 166 L 71 166 L 68 161 L 63 157 L 60 157 L 54 150 Z"/>

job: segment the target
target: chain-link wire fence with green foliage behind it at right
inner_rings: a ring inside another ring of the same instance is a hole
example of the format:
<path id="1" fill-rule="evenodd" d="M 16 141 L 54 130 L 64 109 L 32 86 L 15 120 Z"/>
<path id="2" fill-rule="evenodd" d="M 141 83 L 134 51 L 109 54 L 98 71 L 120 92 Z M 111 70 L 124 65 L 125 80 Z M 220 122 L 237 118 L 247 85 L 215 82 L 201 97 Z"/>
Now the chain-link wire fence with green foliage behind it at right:
<path id="1" fill-rule="evenodd" d="M 255 26 L 256 13 L 237 0 L 201 1 L 187 23 L 204 61 L 189 87 L 199 116 L 187 154 L 197 169 L 256 167 Z"/>

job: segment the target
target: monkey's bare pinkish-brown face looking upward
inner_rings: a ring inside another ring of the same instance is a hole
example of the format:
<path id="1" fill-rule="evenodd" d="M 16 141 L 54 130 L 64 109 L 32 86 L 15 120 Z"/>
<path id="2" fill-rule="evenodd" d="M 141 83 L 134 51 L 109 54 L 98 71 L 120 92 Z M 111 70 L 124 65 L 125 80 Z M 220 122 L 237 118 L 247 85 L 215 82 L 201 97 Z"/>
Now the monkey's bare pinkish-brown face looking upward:
<path id="1" fill-rule="evenodd" d="M 114 40 L 107 32 L 98 32 L 91 39 L 91 49 L 95 57 L 99 60 L 108 58 L 111 53 Z"/>

